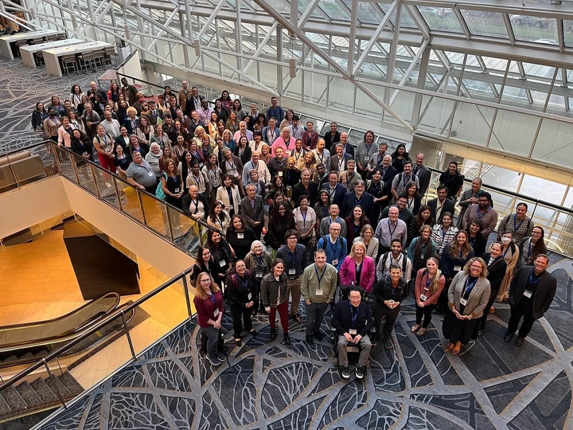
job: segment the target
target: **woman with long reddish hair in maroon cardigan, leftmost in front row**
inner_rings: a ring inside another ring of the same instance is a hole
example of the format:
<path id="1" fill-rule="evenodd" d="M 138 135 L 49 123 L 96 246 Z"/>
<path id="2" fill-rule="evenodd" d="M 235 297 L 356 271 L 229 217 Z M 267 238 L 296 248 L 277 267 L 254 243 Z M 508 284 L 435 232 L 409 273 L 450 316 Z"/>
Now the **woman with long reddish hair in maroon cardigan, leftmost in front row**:
<path id="1" fill-rule="evenodd" d="M 218 366 L 226 359 L 217 349 L 225 304 L 221 290 L 209 273 L 203 272 L 197 276 L 193 304 L 197 310 L 197 323 L 207 337 L 206 358 L 213 366 Z"/>

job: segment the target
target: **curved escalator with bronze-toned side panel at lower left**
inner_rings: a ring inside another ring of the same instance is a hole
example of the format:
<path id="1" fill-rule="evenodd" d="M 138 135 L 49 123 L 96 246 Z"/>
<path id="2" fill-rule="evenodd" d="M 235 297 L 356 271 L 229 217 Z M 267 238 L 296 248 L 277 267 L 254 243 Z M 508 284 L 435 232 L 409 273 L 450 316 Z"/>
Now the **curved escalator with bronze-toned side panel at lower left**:
<path id="1" fill-rule="evenodd" d="M 0 369 L 28 364 L 44 358 L 53 350 L 77 337 L 83 329 L 87 329 L 96 320 L 116 310 L 119 302 L 119 294 L 108 292 L 58 318 L 0 326 Z M 96 337 L 101 337 L 100 335 L 105 334 L 99 333 Z M 77 353 L 87 344 L 89 342 L 81 342 L 69 353 Z"/>

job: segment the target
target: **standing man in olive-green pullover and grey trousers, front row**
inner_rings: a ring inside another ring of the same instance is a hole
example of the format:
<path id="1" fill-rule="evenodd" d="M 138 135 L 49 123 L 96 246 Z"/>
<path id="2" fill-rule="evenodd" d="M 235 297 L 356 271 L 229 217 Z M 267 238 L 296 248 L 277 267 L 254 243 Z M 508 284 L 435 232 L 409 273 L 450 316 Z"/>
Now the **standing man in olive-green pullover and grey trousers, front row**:
<path id="1" fill-rule="evenodd" d="M 304 269 L 303 280 L 300 286 L 301 295 L 307 304 L 307 318 L 305 320 L 306 341 L 309 345 L 324 339 L 320 331 L 324 314 L 328 304 L 334 302 L 336 291 L 337 272 L 336 268 L 326 262 L 326 253 L 323 249 L 315 252 L 315 264 Z"/>

